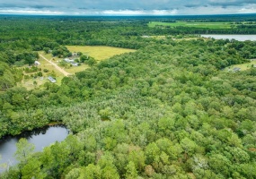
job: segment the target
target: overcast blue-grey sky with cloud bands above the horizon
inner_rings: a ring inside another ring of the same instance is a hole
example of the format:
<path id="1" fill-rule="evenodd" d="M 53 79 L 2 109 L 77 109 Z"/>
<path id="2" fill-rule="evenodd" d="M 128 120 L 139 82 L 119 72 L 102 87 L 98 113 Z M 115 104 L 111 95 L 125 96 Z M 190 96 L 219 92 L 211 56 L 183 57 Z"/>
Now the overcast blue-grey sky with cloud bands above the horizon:
<path id="1" fill-rule="evenodd" d="M 256 13 L 256 0 L 0 0 L 0 14 L 200 15 Z"/>

